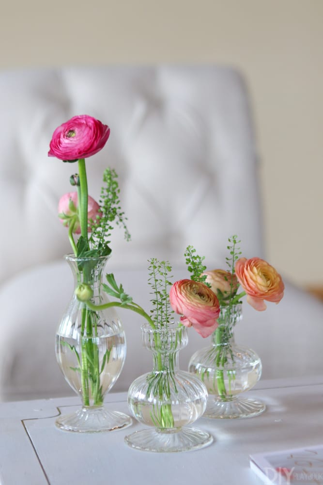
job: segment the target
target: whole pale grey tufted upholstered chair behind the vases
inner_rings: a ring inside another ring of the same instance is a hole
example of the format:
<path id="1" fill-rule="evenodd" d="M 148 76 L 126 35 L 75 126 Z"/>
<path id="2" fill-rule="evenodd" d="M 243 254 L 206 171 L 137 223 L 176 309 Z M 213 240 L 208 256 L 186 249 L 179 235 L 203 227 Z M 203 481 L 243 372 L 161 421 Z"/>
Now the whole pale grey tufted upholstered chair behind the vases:
<path id="1" fill-rule="evenodd" d="M 2 72 L 0 106 L 0 400 L 71 393 L 54 336 L 73 292 L 57 203 L 71 190 L 75 166 L 47 158 L 52 132 L 70 117 L 90 114 L 111 129 L 106 147 L 87 161 L 89 193 L 98 198 L 104 168 L 116 169 L 132 242 L 114 230 L 107 270 L 139 304 L 149 307 L 151 257 L 169 259 L 174 280 L 188 276 L 188 244 L 205 255 L 208 269 L 224 268 L 234 233 L 244 256 L 265 256 L 258 160 L 236 71 L 160 65 Z M 151 368 L 140 318 L 119 313 L 128 349 L 114 390 Z M 237 338 L 258 351 L 264 377 L 322 372 L 323 305 L 287 282 L 278 306 L 260 314 L 245 302 L 244 313 Z M 192 330 L 181 366 L 204 345 Z"/>

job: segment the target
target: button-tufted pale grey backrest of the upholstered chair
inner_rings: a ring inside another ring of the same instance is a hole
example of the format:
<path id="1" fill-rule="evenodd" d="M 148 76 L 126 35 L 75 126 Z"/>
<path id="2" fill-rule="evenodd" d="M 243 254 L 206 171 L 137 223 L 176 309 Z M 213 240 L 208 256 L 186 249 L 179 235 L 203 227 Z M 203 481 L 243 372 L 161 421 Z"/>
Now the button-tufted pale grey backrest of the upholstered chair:
<path id="1" fill-rule="evenodd" d="M 90 114 L 111 129 L 87 161 L 89 193 L 119 175 L 131 242 L 114 230 L 113 266 L 184 265 L 188 244 L 223 267 L 227 238 L 262 255 L 257 156 L 246 87 L 221 66 L 106 66 L 0 73 L 0 281 L 70 252 L 57 217 L 77 165 L 47 158 L 54 129 Z"/>

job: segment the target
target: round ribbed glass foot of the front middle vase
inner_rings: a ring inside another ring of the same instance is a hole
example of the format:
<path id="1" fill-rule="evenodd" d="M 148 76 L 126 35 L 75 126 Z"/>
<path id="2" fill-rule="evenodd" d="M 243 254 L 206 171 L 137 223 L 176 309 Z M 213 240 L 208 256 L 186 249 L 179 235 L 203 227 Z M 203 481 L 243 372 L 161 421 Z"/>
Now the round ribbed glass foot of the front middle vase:
<path id="1" fill-rule="evenodd" d="M 124 441 L 136 450 L 155 453 L 176 453 L 204 448 L 212 443 L 213 437 L 205 431 L 191 427 L 169 432 L 147 428 L 126 436 Z"/>

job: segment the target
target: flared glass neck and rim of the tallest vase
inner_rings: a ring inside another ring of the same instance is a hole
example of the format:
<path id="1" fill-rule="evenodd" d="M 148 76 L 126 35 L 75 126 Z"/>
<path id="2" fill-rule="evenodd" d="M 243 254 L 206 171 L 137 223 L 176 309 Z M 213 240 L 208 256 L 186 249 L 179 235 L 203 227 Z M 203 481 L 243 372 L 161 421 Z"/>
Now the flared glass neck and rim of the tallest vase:
<path id="1" fill-rule="evenodd" d="M 77 258 L 73 255 L 66 255 L 65 259 L 72 270 L 76 287 L 80 283 L 87 283 L 93 290 L 100 288 L 102 273 L 107 264 L 108 256 L 101 256 L 99 258 Z"/>

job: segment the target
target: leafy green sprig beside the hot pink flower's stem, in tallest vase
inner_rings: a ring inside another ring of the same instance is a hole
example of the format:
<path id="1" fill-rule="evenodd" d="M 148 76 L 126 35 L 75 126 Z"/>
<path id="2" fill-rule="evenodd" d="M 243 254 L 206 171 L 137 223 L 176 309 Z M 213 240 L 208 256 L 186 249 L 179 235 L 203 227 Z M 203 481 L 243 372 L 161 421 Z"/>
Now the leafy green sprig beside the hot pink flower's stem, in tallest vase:
<path id="1" fill-rule="evenodd" d="M 92 249 L 98 251 L 98 255 L 103 256 L 111 252 L 108 247 L 108 239 L 113 229 L 113 223 L 117 226 L 122 226 L 124 230 L 124 239 L 130 241 L 130 233 L 127 229 L 124 217 L 124 212 L 121 210 L 121 203 L 119 199 L 120 189 L 117 181 L 118 175 L 115 170 L 107 168 L 103 174 L 103 182 L 105 185 L 101 189 L 101 196 L 99 200 L 100 215 L 95 221 L 90 222 L 91 235 L 89 237 L 90 246 Z"/>

